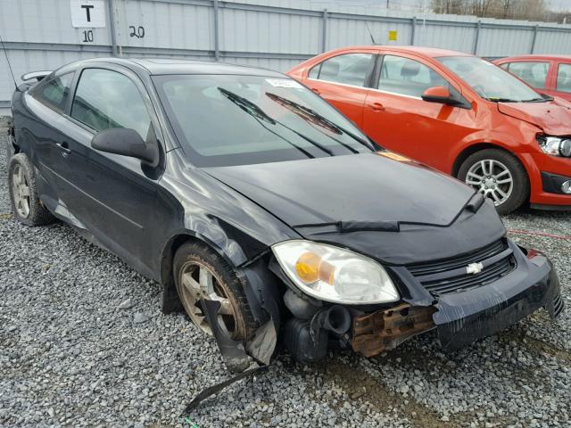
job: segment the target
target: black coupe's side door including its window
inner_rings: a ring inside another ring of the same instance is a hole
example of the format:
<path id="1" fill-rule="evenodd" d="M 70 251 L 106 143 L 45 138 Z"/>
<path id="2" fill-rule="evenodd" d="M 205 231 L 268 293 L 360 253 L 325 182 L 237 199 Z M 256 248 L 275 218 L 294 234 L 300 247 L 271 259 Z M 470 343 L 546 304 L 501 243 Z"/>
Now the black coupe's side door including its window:
<path id="1" fill-rule="evenodd" d="M 149 249 L 155 245 L 151 229 L 161 167 L 93 149 L 93 136 L 109 128 L 135 129 L 160 145 L 153 104 L 137 75 L 120 66 L 81 70 L 67 133 L 73 161 L 66 174 L 78 195 L 72 210 L 100 243 L 152 276 Z"/>

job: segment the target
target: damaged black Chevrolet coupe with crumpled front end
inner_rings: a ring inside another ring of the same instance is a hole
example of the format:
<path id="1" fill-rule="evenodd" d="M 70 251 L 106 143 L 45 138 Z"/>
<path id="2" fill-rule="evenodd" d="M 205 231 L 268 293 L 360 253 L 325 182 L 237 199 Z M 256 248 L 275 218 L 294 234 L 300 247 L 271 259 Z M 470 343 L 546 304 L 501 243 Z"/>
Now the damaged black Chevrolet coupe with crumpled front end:
<path id="1" fill-rule="evenodd" d="M 59 218 L 160 282 L 228 366 L 281 344 L 374 356 L 432 329 L 455 350 L 563 309 L 550 260 L 490 202 L 282 74 L 97 59 L 22 78 L 15 218 Z"/>

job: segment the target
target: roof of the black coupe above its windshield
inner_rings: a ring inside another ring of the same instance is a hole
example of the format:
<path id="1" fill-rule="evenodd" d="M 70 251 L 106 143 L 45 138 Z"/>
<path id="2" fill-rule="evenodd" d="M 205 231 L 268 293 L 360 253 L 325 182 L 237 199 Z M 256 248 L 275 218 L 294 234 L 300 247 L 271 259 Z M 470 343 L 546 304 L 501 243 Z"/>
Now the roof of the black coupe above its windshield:
<path id="1" fill-rule="evenodd" d="M 207 62 L 184 59 L 165 58 L 93 58 L 79 63 L 110 62 L 126 66 L 130 69 L 145 69 L 151 75 L 164 74 L 236 74 L 250 76 L 270 76 L 287 78 L 284 74 L 243 65 L 224 62 Z"/>

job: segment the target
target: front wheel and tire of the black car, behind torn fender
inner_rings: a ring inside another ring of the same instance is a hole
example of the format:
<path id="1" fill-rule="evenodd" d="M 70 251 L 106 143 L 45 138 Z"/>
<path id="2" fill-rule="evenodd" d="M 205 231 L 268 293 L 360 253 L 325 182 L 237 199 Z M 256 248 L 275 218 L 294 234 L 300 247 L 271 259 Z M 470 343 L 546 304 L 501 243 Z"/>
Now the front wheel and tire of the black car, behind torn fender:
<path id="1" fill-rule="evenodd" d="M 185 243 L 173 260 L 178 296 L 188 317 L 204 333 L 212 334 L 201 299 L 218 300 L 219 329 L 235 341 L 244 341 L 256 329 L 244 288 L 234 269 L 203 243 Z"/>

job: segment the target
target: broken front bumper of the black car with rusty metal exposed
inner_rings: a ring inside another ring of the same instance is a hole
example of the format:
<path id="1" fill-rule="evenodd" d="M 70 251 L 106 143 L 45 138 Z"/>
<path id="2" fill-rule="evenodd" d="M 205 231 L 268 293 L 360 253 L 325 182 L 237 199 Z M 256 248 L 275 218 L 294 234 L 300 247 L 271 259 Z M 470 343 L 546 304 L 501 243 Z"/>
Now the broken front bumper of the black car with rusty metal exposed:
<path id="1" fill-rule="evenodd" d="M 318 315 L 305 321 L 294 317 L 286 325 L 285 345 L 298 359 L 323 357 L 327 346 L 335 340 L 342 347 L 351 346 L 352 350 L 372 357 L 392 350 L 414 335 L 436 329 L 443 350 L 453 351 L 514 325 L 540 308 L 548 309 L 551 318 L 558 317 L 563 300 L 549 259 L 539 251 L 522 251 L 514 243 L 509 246 L 515 268 L 490 284 L 434 294 L 429 300 L 426 296 L 408 299 L 373 312 L 349 309 L 351 328 L 346 333 L 325 329 L 328 341 L 312 328 Z M 285 303 L 291 306 L 290 301 Z M 319 309 L 318 314 L 325 310 Z"/>

